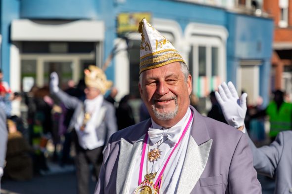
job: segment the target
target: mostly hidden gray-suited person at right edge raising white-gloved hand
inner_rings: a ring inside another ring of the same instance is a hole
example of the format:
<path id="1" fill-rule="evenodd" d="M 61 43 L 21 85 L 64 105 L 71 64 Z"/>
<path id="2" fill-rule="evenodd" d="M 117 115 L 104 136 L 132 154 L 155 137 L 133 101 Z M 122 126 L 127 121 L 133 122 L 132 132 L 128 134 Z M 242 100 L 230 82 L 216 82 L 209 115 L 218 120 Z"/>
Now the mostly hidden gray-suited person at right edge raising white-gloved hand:
<path id="1" fill-rule="evenodd" d="M 246 111 L 246 93 L 239 96 L 232 82 L 222 83 L 216 98 L 222 107 L 223 114 L 232 126 L 246 132 L 243 123 Z M 239 102 L 239 104 L 238 104 Z M 241 113 L 241 114 L 239 114 Z M 247 133 L 246 133 L 247 134 Z M 248 136 L 248 135 L 246 135 Z M 249 139 L 253 155 L 253 165 L 260 174 L 276 179 L 274 194 L 292 193 L 292 131 L 280 132 L 275 141 L 268 146 L 256 148 Z"/>

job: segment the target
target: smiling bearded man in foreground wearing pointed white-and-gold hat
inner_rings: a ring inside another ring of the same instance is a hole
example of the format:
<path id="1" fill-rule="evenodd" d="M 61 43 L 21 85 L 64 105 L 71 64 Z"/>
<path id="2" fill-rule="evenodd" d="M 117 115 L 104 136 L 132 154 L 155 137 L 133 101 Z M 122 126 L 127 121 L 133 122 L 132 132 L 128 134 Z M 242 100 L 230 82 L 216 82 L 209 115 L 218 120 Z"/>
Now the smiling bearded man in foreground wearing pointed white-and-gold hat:
<path id="1" fill-rule="evenodd" d="M 181 55 L 146 19 L 139 32 L 151 118 L 111 136 L 95 194 L 260 194 L 245 135 L 191 107 Z"/>

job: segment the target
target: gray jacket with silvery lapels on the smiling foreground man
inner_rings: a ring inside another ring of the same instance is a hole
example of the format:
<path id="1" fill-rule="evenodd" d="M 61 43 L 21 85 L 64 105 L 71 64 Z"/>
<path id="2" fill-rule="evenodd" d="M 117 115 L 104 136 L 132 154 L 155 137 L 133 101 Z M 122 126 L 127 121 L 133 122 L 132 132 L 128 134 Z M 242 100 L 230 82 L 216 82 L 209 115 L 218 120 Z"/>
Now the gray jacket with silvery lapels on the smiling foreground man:
<path id="1" fill-rule="evenodd" d="M 261 194 L 247 137 L 191 109 L 194 122 L 177 194 Z M 132 158 L 140 157 L 150 125 L 147 119 L 111 136 L 95 194 L 127 193 Z"/>

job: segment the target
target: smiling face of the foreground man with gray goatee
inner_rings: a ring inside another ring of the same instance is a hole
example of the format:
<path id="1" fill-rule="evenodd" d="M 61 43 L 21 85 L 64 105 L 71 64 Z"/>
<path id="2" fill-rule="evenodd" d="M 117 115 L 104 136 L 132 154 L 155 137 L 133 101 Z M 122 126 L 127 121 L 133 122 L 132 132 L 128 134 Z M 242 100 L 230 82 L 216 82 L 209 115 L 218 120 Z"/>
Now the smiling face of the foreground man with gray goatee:
<path id="1" fill-rule="evenodd" d="M 151 118 L 179 121 L 187 112 L 192 91 L 192 78 L 187 80 L 181 64 L 170 63 L 142 72 L 139 90 Z"/>

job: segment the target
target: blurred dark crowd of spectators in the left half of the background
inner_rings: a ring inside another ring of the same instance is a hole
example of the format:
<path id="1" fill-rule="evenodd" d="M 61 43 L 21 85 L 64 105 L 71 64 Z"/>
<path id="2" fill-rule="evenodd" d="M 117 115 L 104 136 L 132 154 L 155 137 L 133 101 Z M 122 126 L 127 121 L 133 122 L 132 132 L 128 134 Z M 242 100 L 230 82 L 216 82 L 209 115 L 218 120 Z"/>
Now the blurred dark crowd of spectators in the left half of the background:
<path id="1" fill-rule="evenodd" d="M 69 80 L 62 89 L 68 95 L 84 101 L 85 88 L 84 79 L 81 79 L 78 84 Z M 135 120 L 130 105 L 135 97 L 128 94 L 116 102 L 117 94 L 118 90 L 112 87 L 105 100 L 115 107 L 118 130 L 150 117 L 145 105 L 141 103 L 140 115 Z M 12 115 L 13 101 L 21 102 L 27 111 Z M 8 84 L 1 81 L 0 109 L 5 112 L 8 130 L 4 179 L 20 181 L 45 174 L 50 170 L 48 160 L 60 166 L 74 164 L 75 147 L 72 143 L 75 132 L 68 130 L 74 110 L 66 108 L 58 98 L 51 95 L 49 86 L 33 86 L 29 92 L 20 94 L 11 92 Z M 48 150 L 48 147 L 53 149 Z"/>

